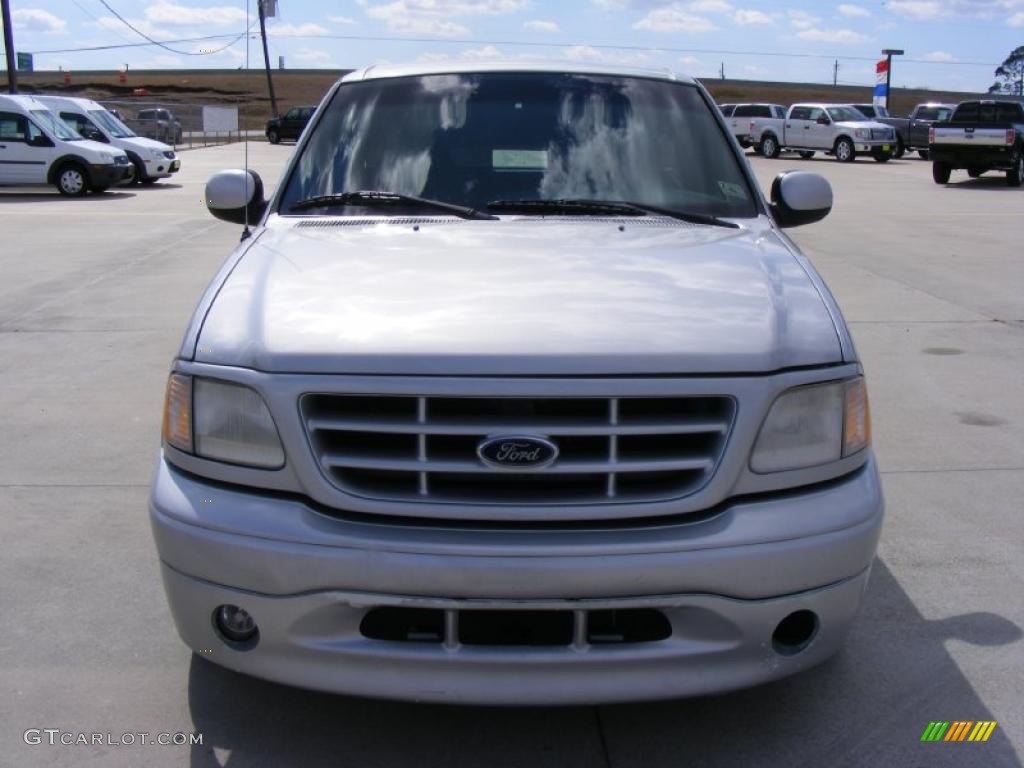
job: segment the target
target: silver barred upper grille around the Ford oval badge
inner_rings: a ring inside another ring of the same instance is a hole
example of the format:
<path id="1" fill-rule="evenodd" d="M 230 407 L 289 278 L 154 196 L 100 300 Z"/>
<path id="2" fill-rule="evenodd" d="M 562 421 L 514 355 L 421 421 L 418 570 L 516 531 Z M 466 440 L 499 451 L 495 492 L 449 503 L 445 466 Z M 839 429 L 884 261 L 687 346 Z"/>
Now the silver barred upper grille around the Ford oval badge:
<path id="1" fill-rule="evenodd" d="M 307 394 L 310 443 L 328 478 L 356 496 L 482 504 L 601 504 L 687 496 L 711 477 L 732 398 L 418 397 Z M 494 468 L 496 435 L 543 437 L 543 468 Z"/>

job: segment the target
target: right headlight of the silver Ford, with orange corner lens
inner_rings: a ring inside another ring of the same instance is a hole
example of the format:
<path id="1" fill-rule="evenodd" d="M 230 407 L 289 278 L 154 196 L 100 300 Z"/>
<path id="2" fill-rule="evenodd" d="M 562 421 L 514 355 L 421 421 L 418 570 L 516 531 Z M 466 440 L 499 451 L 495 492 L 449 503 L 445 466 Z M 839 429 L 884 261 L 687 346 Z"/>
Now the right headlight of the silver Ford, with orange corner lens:
<path id="1" fill-rule="evenodd" d="M 778 396 L 751 455 L 755 472 L 828 464 L 867 447 L 871 421 L 864 378 L 796 387 Z"/>

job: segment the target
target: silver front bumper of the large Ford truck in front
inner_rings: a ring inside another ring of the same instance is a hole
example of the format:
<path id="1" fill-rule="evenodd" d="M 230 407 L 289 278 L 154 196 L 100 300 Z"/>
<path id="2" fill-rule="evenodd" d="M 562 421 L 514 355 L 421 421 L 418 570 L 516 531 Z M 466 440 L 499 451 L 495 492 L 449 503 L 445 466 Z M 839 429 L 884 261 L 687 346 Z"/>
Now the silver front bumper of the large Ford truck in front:
<path id="1" fill-rule="evenodd" d="M 882 524 L 873 461 L 837 481 L 737 500 L 703 518 L 624 527 L 431 526 L 339 519 L 298 499 L 207 483 L 161 461 L 150 503 L 171 612 L 211 660 L 278 682 L 371 696 L 572 703 L 695 695 L 807 669 L 841 646 Z M 220 640 L 248 610 L 259 642 Z M 381 606 L 589 611 L 655 608 L 646 643 L 475 646 L 374 640 Z M 797 610 L 818 627 L 777 652 Z"/>

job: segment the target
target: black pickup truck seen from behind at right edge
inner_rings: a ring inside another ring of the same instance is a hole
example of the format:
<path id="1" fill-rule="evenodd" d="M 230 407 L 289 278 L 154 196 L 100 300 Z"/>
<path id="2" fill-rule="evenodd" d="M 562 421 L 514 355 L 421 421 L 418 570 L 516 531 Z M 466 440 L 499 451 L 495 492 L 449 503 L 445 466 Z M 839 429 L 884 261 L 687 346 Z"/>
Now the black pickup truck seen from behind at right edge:
<path id="1" fill-rule="evenodd" d="M 932 126 L 932 178 L 949 182 L 954 170 L 971 178 L 1005 171 L 1007 184 L 1024 183 L 1024 101 L 962 101 L 948 123 Z"/>

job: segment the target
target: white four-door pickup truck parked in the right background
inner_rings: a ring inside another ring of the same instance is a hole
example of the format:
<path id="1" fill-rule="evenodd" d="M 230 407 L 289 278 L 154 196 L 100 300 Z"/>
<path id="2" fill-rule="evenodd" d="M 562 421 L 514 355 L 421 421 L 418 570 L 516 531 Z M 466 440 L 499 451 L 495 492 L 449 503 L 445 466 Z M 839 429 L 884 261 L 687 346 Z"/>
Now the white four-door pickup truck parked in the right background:
<path id="1" fill-rule="evenodd" d="M 793 150 L 805 160 L 823 152 L 841 163 L 852 163 L 858 155 L 886 163 L 892 157 L 896 133 L 891 126 L 868 120 L 851 106 L 800 103 L 791 106 L 783 119 L 752 120 L 750 140 L 766 158 Z"/>

